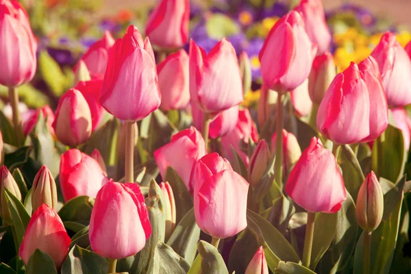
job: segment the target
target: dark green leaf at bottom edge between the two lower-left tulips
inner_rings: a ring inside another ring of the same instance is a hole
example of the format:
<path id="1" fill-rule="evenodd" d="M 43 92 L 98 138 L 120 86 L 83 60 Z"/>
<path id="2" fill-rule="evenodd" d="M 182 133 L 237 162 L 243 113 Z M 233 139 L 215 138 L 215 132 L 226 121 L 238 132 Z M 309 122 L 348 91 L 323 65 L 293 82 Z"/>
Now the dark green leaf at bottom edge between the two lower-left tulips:
<path id="1" fill-rule="evenodd" d="M 62 274 L 105 274 L 108 262 L 97 253 L 75 245 L 62 265 Z"/>

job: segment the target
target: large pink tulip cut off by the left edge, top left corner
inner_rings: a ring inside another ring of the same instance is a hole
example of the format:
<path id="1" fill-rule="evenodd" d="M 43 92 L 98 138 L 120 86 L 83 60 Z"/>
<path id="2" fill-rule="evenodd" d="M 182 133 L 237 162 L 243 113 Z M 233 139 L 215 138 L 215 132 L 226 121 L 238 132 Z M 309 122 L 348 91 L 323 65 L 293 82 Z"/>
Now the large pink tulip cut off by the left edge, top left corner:
<path id="1" fill-rule="evenodd" d="M 21 86 L 36 73 L 37 41 L 18 1 L 0 1 L 0 84 Z"/>

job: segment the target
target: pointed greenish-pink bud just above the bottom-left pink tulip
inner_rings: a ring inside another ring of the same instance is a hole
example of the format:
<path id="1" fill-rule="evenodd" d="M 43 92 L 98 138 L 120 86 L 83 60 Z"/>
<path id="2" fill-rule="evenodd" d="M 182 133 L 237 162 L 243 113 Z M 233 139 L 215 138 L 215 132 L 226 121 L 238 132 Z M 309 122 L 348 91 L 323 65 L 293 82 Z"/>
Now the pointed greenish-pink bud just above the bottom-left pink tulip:
<path id="1" fill-rule="evenodd" d="M 40 208 L 43 203 L 53 209 L 57 206 L 57 187 L 47 166 L 42 166 L 34 177 L 32 186 L 33 212 Z"/>

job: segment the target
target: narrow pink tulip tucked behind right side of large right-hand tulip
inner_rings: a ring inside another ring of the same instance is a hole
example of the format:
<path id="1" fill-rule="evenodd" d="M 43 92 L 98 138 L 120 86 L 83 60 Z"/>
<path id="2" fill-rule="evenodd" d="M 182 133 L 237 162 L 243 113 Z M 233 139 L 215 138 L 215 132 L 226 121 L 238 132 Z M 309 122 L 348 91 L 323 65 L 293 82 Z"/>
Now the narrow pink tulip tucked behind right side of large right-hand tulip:
<path id="1" fill-rule="evenodd" d="M 378 64 L 370 56 L 358 65 L 362 79 L 368 88 L 370 100 L 369 127 L 370 134 L 362 142 L 370 142 L 384 132 L 388 125 L 388 105 L 387 99 L 382 86 L 381 74 L 379 73 Z"/>

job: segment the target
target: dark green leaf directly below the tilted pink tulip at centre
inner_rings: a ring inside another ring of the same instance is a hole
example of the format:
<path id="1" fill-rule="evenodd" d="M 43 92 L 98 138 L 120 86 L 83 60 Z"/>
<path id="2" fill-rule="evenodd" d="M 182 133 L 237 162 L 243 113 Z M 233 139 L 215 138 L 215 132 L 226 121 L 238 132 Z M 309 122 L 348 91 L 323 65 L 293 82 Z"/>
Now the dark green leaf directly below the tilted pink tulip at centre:
<path id="1" fill-rule="evenodd" d="M 183 180 L 171 166 L 167 168 L 166 176 L 163 180 L 164 182 L 169 182 L 171 188 L 173 189 L 175 197 L 175 212 L 177 214 L 175 223 L 178 224 L 179 221 L 186 216 L 187 212 L 194 207 L 192 197 Z"/>

